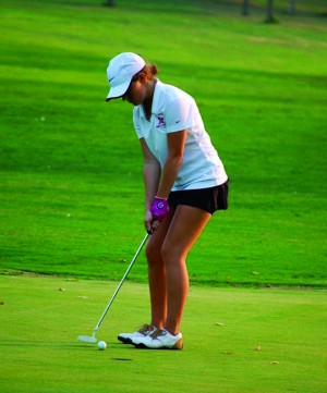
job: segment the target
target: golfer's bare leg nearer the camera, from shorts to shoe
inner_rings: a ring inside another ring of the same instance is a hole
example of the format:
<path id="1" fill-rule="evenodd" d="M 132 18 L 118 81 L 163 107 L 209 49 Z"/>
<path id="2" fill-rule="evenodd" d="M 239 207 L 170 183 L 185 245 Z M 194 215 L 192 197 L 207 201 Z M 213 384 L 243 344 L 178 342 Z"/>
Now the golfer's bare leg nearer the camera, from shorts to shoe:
<path id="1" fill-rule="evenodd" d="M 180 332 L 189 293 L 187 253 L 210 218 L 211 214 L 204 210 L 179 206 L 166 234 L 161 249 L 167 285 L 167 318 L 164 327 L 171 334 Z"/>

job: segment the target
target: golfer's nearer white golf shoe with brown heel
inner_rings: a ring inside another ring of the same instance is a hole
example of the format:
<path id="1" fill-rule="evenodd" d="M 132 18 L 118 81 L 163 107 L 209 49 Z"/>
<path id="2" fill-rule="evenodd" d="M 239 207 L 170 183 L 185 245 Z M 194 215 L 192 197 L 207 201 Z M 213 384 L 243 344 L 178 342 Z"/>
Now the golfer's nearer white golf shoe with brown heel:
<path id="1" fill-rule="evenodd" d="M 148 349 L 182 349 L 184 345 L 182 333 L 173 335 L 165 329 L 157 329 L 154 333 L 146 336 L 133 336 L 132 344 L 136 348 Z"/>

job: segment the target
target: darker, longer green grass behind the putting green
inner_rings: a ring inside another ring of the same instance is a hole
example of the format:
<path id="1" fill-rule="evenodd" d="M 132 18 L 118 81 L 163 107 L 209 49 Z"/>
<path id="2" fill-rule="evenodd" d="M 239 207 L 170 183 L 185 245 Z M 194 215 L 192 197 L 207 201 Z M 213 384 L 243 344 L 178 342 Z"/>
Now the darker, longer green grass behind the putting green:
<path id="1" fill-rule="evenodd" d="M 0 271 L 125 271 L 144 236 L 142 157 L 132 108 L 105 97 L 109 59 L 132 50 L 196 98 L 230 176 L 192 283 L 325 286 L 324 19 L 303 9 L 271 26 L 213 2 L 155 3 L 1 2 Z M 143 256 L 130 279 L 146 281 Z"/>

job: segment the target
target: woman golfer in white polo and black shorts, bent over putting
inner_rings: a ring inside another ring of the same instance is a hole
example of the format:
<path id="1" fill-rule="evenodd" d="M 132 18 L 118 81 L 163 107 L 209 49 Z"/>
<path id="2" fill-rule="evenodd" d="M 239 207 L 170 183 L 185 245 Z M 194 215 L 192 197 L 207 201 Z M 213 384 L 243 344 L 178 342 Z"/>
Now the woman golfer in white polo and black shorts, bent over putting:
<path id="1" fill-rule="evenodd" d="M 120 53 L 109 62 L 107 101 L 134 106 L 144 156 L 150 320 L 118 340 L 142 348 L 182 349 L 189 292 L 186 257 L 211 214 L 228 207 L 228 176 L 194 99 L 160 82 L 155 64 Z"/>

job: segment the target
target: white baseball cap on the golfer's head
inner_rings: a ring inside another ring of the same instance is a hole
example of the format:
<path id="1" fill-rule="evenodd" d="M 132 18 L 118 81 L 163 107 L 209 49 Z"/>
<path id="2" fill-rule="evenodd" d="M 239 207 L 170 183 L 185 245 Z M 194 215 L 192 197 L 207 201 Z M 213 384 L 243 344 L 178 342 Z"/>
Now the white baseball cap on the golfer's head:
<path id="1" fill-rule="evenodd" d="M 110 90 L 106 101 L 122 97 L 130 87 L 132 77 L 145 66 L 145 61 L 135 53 L 120 53 L 110 60 L 107 77 Z"/>

